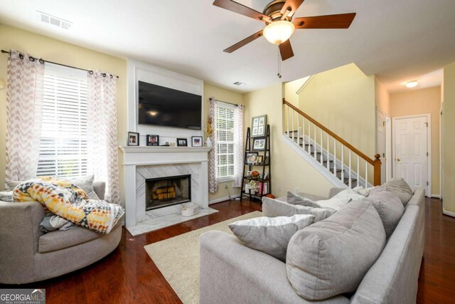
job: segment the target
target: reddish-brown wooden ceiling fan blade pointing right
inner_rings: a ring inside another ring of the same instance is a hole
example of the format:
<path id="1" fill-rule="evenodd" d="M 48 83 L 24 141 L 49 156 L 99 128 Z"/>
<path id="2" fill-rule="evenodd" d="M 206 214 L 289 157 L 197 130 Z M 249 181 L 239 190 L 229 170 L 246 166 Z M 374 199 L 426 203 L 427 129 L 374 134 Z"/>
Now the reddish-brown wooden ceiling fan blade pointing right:
<path id="1" fill-rule="evenodd" d="M 355 13 L 296 18 L 296 28 L 348 28 Z"/>

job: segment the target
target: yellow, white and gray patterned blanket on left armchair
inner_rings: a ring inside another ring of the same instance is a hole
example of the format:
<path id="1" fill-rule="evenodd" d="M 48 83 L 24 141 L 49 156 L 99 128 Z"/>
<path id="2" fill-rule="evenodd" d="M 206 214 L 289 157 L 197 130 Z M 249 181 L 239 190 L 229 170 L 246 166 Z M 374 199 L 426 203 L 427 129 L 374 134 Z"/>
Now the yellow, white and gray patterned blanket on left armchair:
<path id="1" fill-rule="evenodd" d="M 120 205 L 88 199 L 84 190 L 74 184 L 50 177 L 18 184 L 13 197 L 19 202 L 38 201 L 45 211 L 102 234 L 109 234 L 125 212 Z"/>

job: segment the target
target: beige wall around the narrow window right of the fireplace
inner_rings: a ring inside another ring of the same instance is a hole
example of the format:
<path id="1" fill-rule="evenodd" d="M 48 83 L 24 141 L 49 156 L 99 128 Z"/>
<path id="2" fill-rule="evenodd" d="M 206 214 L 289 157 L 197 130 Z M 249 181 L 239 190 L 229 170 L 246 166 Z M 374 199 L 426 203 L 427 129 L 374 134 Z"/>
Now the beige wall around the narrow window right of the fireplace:
<path id="1" fill-rule="evenodd" d="M 234 92 L 232 90 L 227 90 L 225 88 L 220 88 L 216 85 L 210 83 L 204 83 L 204 101 L 203 101 L 203 110 L 205 113 L 204 125 L 207 123 L 208 117 L 208 98 L 215 97 L 217 100 L 225 101 L 226 103 L 235 103 L 243 105 L 243 93 Z M 245 116 L 246 117 L 246 116 Z M 248 122 L 245 119 L 245 124 Z M 245 128 L 246 129 L 246 128 Z M 204 138 L 205 138 L 204 134 Z M 225 185 L 229 187 L 230 195 L 240 194 L 240 188 L 232 188 L 232 182 L 222 182 L 218 185 L 218 192 L 208 193 L 209 201 L 218 201 L 219 199 L 224 199 L 228 197 L 228 189 L 225 189 Z"/>

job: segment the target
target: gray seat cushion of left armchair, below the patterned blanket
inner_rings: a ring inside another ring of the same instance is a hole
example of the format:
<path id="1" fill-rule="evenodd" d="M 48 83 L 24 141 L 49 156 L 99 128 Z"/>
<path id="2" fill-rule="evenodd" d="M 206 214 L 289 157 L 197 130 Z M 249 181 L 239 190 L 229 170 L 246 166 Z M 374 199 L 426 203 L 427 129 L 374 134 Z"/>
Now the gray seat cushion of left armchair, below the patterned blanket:
<path id="1" fill-rule="evenodd" d="M 119 220 L 117 224 L 115 224 L 115 226 L 112 227 L 110 233 L 117 229 L 118 226 L 122 226 L 121 220 Z M 38 252 L 46 253 L 51 251 L 58 251 L 61 249 L 79 245 L 81 243 L 87 243 L 88 241 L 98 239 L 102 236 L 105 236 L 105 234 L 100 234 L 93 230 L 89 230 L 82 227 L 75 227 L 67 231 L 62 230 L 51 231 L 48 234 L 43 234 L 40 237 L 38 241 Z"/>

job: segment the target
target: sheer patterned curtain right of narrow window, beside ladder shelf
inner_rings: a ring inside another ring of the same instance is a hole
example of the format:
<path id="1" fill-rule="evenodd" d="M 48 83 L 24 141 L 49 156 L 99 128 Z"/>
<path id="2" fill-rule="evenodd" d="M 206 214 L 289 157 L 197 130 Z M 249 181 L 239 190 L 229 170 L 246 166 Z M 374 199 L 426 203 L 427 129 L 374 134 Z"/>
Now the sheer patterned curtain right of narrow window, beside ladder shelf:
<path id="1" fill-rule="evenodd" d="M 234 112 L 234 187 L 242 187 L 243 179 L 243 112 L 245 107 L 237 105 Z"/>

